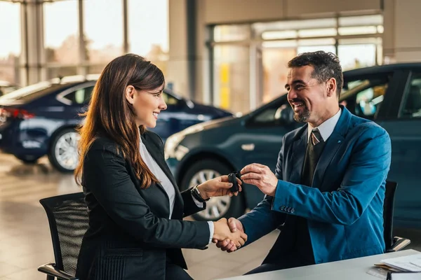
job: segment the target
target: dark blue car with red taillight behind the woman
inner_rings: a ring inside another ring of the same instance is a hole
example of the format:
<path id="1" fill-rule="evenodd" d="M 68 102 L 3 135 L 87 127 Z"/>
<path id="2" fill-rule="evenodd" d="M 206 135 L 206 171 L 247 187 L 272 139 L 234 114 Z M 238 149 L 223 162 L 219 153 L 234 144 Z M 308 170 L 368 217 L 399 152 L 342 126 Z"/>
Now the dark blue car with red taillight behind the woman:
<path id="1" fill-rule="evenodd" d="M 68 76 L 36 83 L 0 97 L 0 150 L 25 163 L 48 155 L 60 172 L 73 172 L 78 161 L 76 125 L 83 120 L 98 75 Z M 197 104 L 164 90 L 168 109 L 152 130 L 165 141 L 175 132 L 231 113 Z"/>

